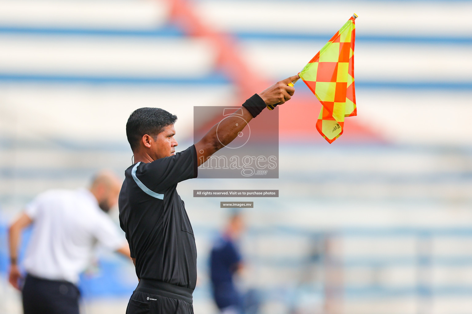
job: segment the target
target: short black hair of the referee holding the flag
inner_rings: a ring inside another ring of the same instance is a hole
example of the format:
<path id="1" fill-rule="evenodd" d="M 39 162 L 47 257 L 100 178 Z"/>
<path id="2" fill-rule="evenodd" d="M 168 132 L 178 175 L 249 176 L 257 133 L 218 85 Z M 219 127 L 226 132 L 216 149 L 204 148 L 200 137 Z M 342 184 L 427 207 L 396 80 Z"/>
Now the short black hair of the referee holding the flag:
<path id="1" fill-rule="evenodd" d="M 136 109 L 126 122 L 126 137 L 128 138 L 131 150 L 139 146 L 139 141 L 144 134 L 148 134 L 154 139 L 168 125 L 174 124 L 177 116 L 160 108 L 139 108 Z"/>

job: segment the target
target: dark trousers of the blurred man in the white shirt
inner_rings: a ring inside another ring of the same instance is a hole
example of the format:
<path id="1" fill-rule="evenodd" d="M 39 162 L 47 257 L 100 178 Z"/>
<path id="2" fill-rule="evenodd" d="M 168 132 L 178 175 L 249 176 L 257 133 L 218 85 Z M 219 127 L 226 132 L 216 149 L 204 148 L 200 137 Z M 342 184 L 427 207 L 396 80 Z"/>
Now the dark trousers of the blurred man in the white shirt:
<path id="1" fill-rule="evenodd" d="M 71 282 L 27 275 L 22 290 L 25 314 L 79 314 L 80 292 Z"/>

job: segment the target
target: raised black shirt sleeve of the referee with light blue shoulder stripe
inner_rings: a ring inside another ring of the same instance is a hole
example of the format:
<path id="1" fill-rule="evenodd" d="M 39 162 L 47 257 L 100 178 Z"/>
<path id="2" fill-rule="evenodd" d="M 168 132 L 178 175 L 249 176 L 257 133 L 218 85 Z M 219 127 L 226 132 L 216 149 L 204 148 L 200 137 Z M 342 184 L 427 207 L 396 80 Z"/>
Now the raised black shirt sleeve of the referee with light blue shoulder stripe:
<path id="1" fill-rule="evenodd" d="M 141 163 L 136 168 L 136 172 L 132 172 L 133 178 L 141 188 L 148 188 L 156 193 L 161 193 L 170 186 L 195 178 L 197 175 L 198 164 L 195 145 L 173 156 Z"/>

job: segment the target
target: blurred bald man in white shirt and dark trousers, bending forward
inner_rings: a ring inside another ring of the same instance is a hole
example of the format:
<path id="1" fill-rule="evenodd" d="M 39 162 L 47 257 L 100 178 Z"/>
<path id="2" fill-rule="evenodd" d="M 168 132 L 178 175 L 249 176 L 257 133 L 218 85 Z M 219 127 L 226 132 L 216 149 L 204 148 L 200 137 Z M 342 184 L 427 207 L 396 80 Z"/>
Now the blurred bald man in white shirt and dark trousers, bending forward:
<path id="1" fill-rule="evenodd" d="M 17 265 L 21 231 L 33 224 L 23 263 L 25 314 L 78 314 L 76 284 L 97 242 L 130 258 L 126 239 L 107 215 L 118 202 L 120 188 L 116 175 L 102 171 L 89 189 L 39 194 L 12 223 L 8 230 L 9 282 L 17 289 L 21 289 L 22 279 Z"/>

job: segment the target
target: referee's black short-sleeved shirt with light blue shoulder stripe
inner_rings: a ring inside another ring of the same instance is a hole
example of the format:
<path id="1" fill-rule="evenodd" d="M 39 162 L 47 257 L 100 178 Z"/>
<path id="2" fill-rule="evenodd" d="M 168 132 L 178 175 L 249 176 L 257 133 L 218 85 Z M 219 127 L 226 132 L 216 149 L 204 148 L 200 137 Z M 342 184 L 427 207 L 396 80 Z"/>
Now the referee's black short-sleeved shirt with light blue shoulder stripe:
<path id="1" fill-rule="evenodd" d="M 197 177 L 197 153 L 185 151 L 126 169 L 119 193 L 121 229 L 136 258 L 138 278 L 195 289 L 194 232 L 177 183 Z"/>

